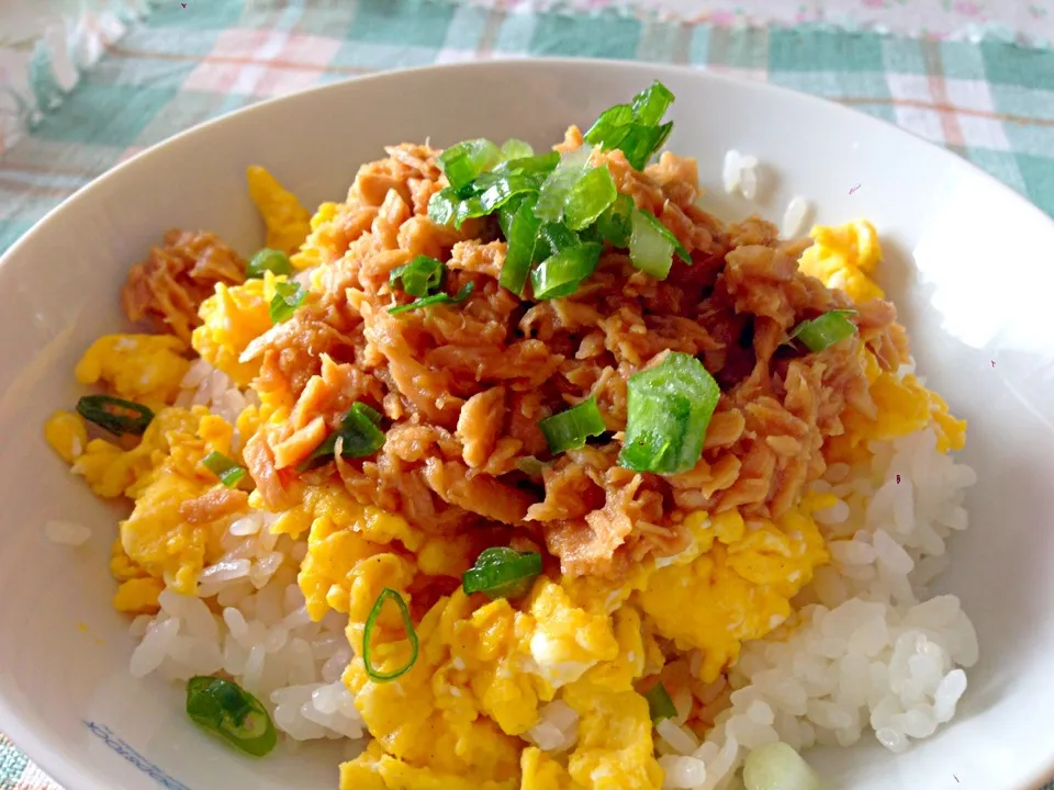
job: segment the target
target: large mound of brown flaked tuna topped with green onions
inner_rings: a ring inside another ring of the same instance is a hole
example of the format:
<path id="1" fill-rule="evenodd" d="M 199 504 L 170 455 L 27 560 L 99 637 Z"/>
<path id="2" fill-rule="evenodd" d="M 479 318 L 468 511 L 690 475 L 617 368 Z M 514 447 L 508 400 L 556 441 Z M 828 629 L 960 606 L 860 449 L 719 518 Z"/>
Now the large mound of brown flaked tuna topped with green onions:
<path id="1" fill-rule="evenodd" d="M 559 148 L 581 145 L 572 127 Z M 294 496 L 294 459 L 360 400 L 383 413 L 384 447 L 307 474 L 338 475 L 358 500 L 425 530 L 545 545 L 565 574 L 618 576 L 684 545 L 693 511 L 784 514 L 823 473 L 821 448 L 843 432 L 845 407 L 874 415 L 861 345 L 886 370 L 908 359 L 889 303 L 854 305 L 798 271 L 808 240 L 783 241 L 756 217 L 725 226 L 695 205 L 691 159 L 664 154 L 640 172 L 620 151 L 592 154 L 692 266 L 675 260 L 657 281 L 606 250 L 578 292 L 531 303 L 497 284 L 506 246 L 493 219 L 459 230 L 428 219 L 446 185 L 438 151 L 388 153 L 359 169 L 347 203 L 314 233 L 321 287 L 246 352 L 262 357 L 257 388 L 290 408 L 245 449 L 269 507 Z M 392 315 L 412 297 L 390 273 L 418 253 L 446 263 L 447 293 L 471 282 L 471 296 Z M 798 321 L 845 307 L 857 311 L 856 336 L 819 353 L 785 342 Z M 700 359 L 722 394 L 694 469 L 638 474 L 617 463 L 627 381 L 669 351 Z M 538 421 L 590 396 L 608 433 L 553 458 Z"/>

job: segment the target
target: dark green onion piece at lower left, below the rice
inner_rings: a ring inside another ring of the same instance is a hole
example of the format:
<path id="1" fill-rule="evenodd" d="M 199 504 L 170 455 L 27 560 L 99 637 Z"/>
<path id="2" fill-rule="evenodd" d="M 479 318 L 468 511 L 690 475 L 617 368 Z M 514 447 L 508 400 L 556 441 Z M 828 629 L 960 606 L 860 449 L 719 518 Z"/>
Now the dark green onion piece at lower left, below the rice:
<path id="1" fill-rule="evenodd" d="M 240 752 L 262 757 L 274 748 L 274 724 L 260 701 L 233 680 L 197 676 L 187 684 L 187 715 Z"/>

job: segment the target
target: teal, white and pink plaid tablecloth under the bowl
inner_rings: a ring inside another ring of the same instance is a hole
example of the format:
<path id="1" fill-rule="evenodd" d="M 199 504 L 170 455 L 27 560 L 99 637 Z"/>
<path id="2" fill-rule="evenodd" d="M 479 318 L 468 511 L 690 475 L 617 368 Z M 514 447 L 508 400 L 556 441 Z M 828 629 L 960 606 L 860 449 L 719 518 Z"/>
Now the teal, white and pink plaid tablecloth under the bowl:
<path id="1" fill-rule="evenodd" d="M 78 188 L 193 124 L 356 75 L 498 57 L 673 63 L 828 97 L 948 146 L 1054 214 L 1049 49 L 518 8 L 433 0 L 159 5 L 0 159 L 0 251 Z M 46 69 L 37 77 L 38 90 L 48 90 Z M 0 735 L 0 790 L 54 787 Z"/>

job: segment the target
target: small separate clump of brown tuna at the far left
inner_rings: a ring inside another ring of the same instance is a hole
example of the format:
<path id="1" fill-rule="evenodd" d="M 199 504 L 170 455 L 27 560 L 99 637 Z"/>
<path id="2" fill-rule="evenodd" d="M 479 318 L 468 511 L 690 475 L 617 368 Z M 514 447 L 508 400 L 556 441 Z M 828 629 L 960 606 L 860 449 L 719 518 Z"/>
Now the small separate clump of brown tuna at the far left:
<path id="1" fill-rule="evenodd" d="M 244 280 L 245 261 L 214 234 L 169 230 L 146 260 L 132 267 L 121 305 L 131 320 L 148 318 L 189 343 L 201 324 L 198 307 L 216 283 Z"/>

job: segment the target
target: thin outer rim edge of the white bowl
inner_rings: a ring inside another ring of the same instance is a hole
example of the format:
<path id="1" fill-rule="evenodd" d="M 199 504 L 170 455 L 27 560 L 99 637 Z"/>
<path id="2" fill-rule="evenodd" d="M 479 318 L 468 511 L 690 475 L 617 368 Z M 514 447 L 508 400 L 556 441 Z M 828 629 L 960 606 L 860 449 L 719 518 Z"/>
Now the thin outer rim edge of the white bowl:
<path id="1" fill-rule="evenodd" d="M 803 91 L 784 86 L 772 84 L 771 82 L 751 80 L 738 75 L 717 72 L 707 68 L 696 68 L 687 65 L 653 64 L 642 60 L 621 60 L 615 58 L 498 57 L 462 63 L 428 64 L 411 68 L 356 75 L 334 82 L 312 86 L 310 88 L 294 91 L 284 95 L 264 99 L 248 106 L 239 108 L 232 112 L 220 115 L 218 117 L 210 119 L 195 124 L 194 126 L 159 140 L 158 143 L 155 143 L 142 151 L 128 157 L 126 160 L 114 165 L 109 170 L 83 184 L 74 193 L 64 199 L 58 205 L 53 207 L 36 223 L 34 223 L 29 230 L 22 234 L 22 236 L 14 244 L 12 244 L 11 247 L 3 252 L 3 255 L 0 255 L 0 276 L 2 276 L 4 267 L 9 264 L 14 257 L 21 253 L 23 247 L 32 245 L 36 236 L 46 233 L 46 227 L 53 222 L 54 217 L 59 216 L 64 212 L 70 211 L 71 206 L 77 205 L 82 201 L 91 200 L 93 193 L 102 189 L 103 184 L 121 178 L 121 174 L 126 170 L 141 167 L 144 161 L 148 160 L 153 156 L 156 156 L 159 150 L 168 146 L 177 145 L 184 138 L 192 137 L 198 134 L 208 134 L 208 129 L 215 125 L 227 123 L 235 117 L 244 117 L 251 115 L 253 113 L 264 112 L 273 104 L 290 101 L 299 97 L 325 92 L 337 93 L 343 90 L 348 90 L 348 84 L 350 83 L 371 81 L 402 81 L 406 79 L 413 79 L 416 75 L 428 71 L 438 70 L 455 74 L 459 71 L 479 71 L 481 69 L 495 67 L 542 70 L 571 68 L 581 69 L 586 72 L 595 69 L 617 68 L 627 72 L 636 71 L 655 79 L 661 79 L 662 75 L 692 75 L 695 79 L 721 82 L 727 86 L 735 87 L 741 91 L 752 91 L 759 94 L 780 95 L 787 99 L 793 99 L 794 101 L 805 103 L 807 106 L 822 109 L 823 112 L 833 112 L 842 117 L 856 122 L 866 119 L 866 121 L 871 122 L 872 124 L 877 124 L 882 127 L 885 127 L 887 129 L 887 134 L 894 133 L 905 140 L 910 140 L 910 145 L 916 146 L 919 150 L 927 151 L 927 156 L 939 157 L 942 159 L 942 161 L 951 165 L 952 167 L 972 172 L 974 178 L 979 178 L 984 183 L 987 184 L 988 188 L 996 190 L 1006 198 L 1010 198 L 1011 204 L 1019 206 L 1019 211 L 1025 213 L 1031 212 L 1038 218 L 1040 218 L 1041 222 L 1045 221 L 1045 223 L 1050 226 L 1051 232 L 1054 233 L 1054 217 L 1032 203 L 1025 195 L 983 170 L 974 162 L 958 156 L 957 154 L 937 143 L 919 136 L 913 132 L 897 126 L 892 121 L 870 115 L 862 110 L 842 104 L 832 99 L 805 93 Z M 33 763 L 40 766 L 44 772 L 46 772 L 52 779 L 65 788 L 65 790 L 113 790 L 112 786 L 102 783 L 94 778 L 80 776 L 76 765 L 70 760 L 69 757 L 38 736 L 32 729 L 22 724 L 21 716 L 19 715 L 19 709 L 4 697 L 0 697 L 0 731 L 8 736 L 8 738 L 16 748 L 22 751 Z M 1018 790 L 1044 790 L 1047 785 L 1051 783 L 1052 777 L 1054 777 L 1054 743 L 1052 743 L 1051 756 L 1046 765 L 1047 767 L 1044 769 L 1043 774 L 1041 774 L 1034 781 L 1028 782 Z"/>

